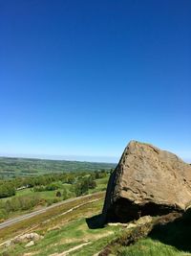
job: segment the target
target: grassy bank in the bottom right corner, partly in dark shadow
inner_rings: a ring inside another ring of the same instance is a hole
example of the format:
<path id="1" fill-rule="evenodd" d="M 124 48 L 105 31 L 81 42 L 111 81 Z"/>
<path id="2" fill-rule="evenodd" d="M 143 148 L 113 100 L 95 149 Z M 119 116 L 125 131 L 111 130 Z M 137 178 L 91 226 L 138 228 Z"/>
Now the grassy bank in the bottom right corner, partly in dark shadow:
<path id="1" fill-rule="evenodd" d="M 172 216 L 166 223 L 159 223 L 159 218 L 155 218 L 151 223 L 124 229 L 103 252 L 110 248 L 110 252 L 118 256 L 190 256 L 191 210 L 174 221 Z M 163 220 L 167 220 L 167 217 L 163 217 Z M 141 239 L 138 240 L 138 237 Z M 138 242 L 133 244 L 133 241 Z M 125 246 L 127 244 L 131 245 Z"/>

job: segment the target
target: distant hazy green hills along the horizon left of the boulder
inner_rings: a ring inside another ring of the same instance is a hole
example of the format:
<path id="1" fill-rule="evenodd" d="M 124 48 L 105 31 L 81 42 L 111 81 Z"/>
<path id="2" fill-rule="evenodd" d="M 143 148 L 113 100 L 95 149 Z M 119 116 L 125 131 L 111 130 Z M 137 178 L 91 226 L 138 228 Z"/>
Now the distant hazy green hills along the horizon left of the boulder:
<path id="1" fill-rule="evenodd" d="M 43 175 L 63 172 L 110 170 L 114 163 L 0 157 L 0 177 Z"/>

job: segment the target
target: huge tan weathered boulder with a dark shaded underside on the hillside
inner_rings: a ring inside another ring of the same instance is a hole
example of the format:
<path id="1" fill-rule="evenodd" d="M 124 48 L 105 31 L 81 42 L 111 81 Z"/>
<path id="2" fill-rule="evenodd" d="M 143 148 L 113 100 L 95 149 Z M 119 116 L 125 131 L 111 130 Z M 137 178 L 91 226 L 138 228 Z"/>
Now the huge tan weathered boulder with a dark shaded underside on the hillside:
<path id="1" fill-rule="evenodd" d="M 191 204 L 191 166 L 177 155 L 131 141 L 110 176 L 103 207 L 106 221 L 184 211 Z"/>

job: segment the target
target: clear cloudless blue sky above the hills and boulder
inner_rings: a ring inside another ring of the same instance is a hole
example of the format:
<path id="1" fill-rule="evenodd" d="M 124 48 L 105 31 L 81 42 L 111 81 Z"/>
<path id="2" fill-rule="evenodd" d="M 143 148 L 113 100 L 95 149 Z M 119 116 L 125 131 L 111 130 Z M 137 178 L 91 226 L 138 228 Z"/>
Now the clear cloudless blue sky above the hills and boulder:
<path id="1" fill-rule="evenodd" d="M 190 13 L 189 0 L 0 1 L 0 154 L 112 161 L 135 139 L 191 159 Z"/>

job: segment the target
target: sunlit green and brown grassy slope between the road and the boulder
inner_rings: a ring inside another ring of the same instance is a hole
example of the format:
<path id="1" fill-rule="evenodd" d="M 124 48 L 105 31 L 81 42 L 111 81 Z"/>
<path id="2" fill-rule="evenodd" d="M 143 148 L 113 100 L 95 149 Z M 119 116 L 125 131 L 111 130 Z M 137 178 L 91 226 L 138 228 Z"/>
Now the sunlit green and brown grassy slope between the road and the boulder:
<path id="1" fill-rule="evenodd" d="M 95 202 L 91 200 L 101 198 Z M 93 255 L 99 251 L 109 240 L 114 238 L 115 232 L 118 232 L 119 227 L 106 227 L 102 229 L 89 229 L 85 218 L 91 217 L 93 212 L 98 214 L 102 209 L 104 194 L 90 196 L 90 198 L 80 199 L 80 203 L 86 203 L 66 215 L 60 215 L 67 209 L 77 205 L 79 201 L 69 203 L 59 209 L 52 210 L 49 215 L 32 218 L 32 220 L 24 221 L 24 223 L 16 224 L 11 228 L 7 228 L 6 232 L 0 231 L 0 239 L 5 239 L 15 236 L 19 233 L 35 232 L 44 236 L 44 239 L 36 243 L 30 248 L 25 248 L 25 244 L 16 244 L 7 249 L 1 247 L 0 255 L 25 255 L 25 253 L 32 253 L 32 255 L 47 256 L 55 252 L 63 252 L 69 248 L 73 248 L 77 244 L 88 244 L 78 251 L 73 251 L 70 255 Z M 48 221 L 49 220 L 49 221 Z M 33 225 L 33 227 L 32 227 Z M 31 229 L 29 230 L 29 226 Z"/>

